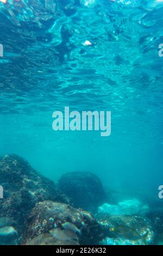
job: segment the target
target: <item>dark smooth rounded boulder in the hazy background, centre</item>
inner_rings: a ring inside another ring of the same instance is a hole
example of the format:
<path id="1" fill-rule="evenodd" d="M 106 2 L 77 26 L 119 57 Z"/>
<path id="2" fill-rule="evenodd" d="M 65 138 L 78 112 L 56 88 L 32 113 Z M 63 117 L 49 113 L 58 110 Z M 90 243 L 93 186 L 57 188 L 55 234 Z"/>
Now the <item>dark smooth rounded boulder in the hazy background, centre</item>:
<path id="1" fill-rule="evenodd" d="M 76 208 L 94 211 L 105 200 L 105 192 L 99 178 L 90 172 L 72 172 L 61 176 L 59 188 L 73 199 Z"/>

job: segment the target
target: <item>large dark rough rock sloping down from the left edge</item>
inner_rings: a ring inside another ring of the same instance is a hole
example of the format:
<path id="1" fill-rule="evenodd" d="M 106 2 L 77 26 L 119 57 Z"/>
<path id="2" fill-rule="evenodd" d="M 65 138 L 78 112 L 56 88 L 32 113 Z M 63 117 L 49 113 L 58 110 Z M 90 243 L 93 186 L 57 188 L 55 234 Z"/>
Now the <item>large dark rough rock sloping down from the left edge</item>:
<path id="1" fill-rule="evenodd" d="M 6 155 L 1 159 L 0 182 L 4 190 L 4 198 L 0 200 L 0 217 L 11 217 L 19 228 L 37 202 L 53 200 L 70 204 L 53 181 L 36 172 L 17 155 Z"/>

